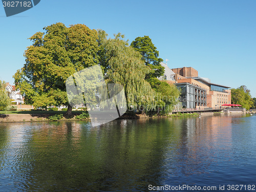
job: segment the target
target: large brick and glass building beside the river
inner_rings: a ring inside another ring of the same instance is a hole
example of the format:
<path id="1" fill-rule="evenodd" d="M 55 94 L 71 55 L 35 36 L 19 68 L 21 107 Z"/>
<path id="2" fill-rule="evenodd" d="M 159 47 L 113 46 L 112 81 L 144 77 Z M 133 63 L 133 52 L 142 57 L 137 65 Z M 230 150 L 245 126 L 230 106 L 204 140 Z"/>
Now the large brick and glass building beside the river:
<path id="1" fill-rule="evenodd" d="M 199 77 L 198 71 L 194 68 L 169 69 L 165 63 L 163 64 L 165 69 L 172 73 L 172 83 L 175 81 L 181 90 L 180 101 L 183 107 L 220 108 L 224 103 L 231 103 L 230 87 L 211 83 L 210 79 Z"/>

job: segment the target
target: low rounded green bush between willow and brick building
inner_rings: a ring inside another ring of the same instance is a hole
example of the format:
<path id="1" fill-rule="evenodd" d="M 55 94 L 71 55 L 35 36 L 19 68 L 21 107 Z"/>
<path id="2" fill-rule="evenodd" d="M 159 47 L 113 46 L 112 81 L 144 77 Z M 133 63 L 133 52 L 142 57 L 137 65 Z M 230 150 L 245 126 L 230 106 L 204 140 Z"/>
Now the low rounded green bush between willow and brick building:
<path id="1" fill-rule="evenodd" d="M 157 78 L 151 77 L 147 81 L 150 82 L 152 89 L 157 93 L 155 100 L 157 101 L 158 108 L 155 111 L 161 115 L 171 112 L 174 105 L 179 102 L 179 89 L 174 84 L 168 84 Z"/>

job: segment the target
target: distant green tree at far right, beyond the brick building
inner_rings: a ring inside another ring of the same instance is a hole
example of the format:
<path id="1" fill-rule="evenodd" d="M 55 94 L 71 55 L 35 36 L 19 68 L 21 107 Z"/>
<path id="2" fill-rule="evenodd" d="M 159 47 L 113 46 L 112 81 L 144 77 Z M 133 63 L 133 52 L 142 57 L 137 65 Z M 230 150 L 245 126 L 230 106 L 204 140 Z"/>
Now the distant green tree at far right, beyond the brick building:
<path id="1" fill-rule="evenodd" d="M 249 110 L 253 105 L 250 90 L 246 86 L 240 86 L 237 89 L 231 89 L 231 103 L 241 104 L 243 108 Z"/>

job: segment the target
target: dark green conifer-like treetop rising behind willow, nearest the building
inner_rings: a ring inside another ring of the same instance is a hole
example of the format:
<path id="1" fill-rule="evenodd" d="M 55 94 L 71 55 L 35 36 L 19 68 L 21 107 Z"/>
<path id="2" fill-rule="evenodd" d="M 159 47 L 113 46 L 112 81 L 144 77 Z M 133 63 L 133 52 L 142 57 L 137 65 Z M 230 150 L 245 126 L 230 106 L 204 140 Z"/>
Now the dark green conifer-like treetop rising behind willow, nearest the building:
<path id="1" fill-rule="evenodd" d="M 149 36 L 137 37 L 131 46 L 142 55 L 142 60 L 146 66 L 151 68 L 151 73 L 147 74 L 146 79 L 150 77 L 160 77 L 164 74 L 164 67 L 160 65 L 163 59 L 158 58 L 159 52 L 157 48 L 152 43 Z"/>

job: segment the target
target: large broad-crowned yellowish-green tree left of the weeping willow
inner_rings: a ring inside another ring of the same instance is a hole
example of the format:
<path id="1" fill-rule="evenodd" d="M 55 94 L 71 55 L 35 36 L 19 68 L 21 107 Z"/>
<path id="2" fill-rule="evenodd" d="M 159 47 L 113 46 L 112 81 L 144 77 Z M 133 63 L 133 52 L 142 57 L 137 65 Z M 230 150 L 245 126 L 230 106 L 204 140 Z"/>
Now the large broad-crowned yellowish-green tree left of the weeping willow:
<path id="1" fill-rule="evenodd" d="M 98 33 L 85 25 L 69 28 L 56 23 L 29 39 L 33 45 L 25 51 L 26 63 L 15 75 L 15 85 L 25 100 L 35 107 L 67 105 L 66 79 L 87 67 L 98 64 Z"/>

